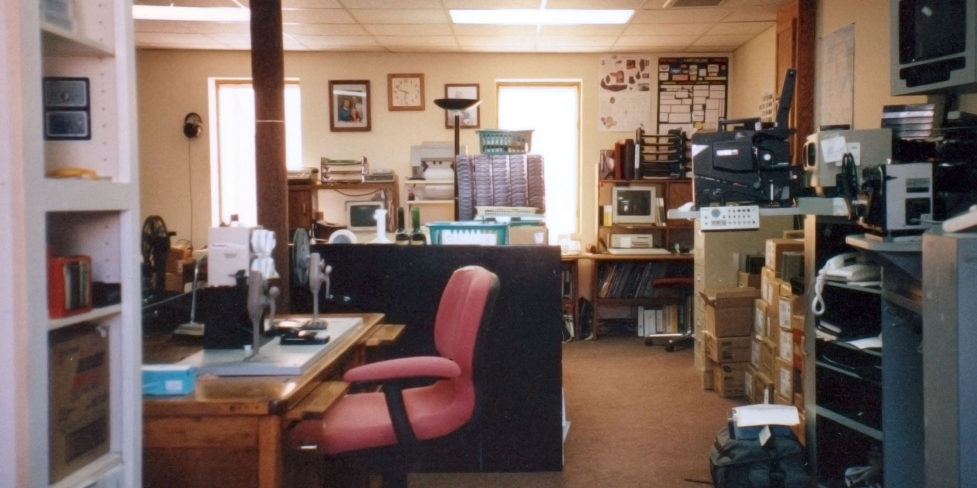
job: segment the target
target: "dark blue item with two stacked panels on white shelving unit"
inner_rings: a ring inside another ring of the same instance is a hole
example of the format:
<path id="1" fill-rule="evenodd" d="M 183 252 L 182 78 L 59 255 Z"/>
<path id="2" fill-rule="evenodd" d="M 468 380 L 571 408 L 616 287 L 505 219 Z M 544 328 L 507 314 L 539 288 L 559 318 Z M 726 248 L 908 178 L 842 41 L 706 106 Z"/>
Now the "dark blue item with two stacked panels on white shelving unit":
<path id="1" fill-rule="evenodd" d="M 92 139 L 88 78 L 44 78 L 44 139 Z"/>

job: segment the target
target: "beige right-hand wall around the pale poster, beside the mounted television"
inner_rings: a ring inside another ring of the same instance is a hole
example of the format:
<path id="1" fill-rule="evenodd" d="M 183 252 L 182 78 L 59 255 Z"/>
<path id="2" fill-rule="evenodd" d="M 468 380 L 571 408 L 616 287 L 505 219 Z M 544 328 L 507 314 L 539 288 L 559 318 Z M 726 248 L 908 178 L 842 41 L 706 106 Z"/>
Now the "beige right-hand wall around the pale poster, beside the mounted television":
<path id="1" fill-rule="evenodd" d="M 852 22 L 855 23 L 854 128 L 874 129 L 881 125 L 883 105 L 921 103 L 926 102 L 926 97 L 889 95 L 889 0 L 819 2 L 819 39 Z"/>

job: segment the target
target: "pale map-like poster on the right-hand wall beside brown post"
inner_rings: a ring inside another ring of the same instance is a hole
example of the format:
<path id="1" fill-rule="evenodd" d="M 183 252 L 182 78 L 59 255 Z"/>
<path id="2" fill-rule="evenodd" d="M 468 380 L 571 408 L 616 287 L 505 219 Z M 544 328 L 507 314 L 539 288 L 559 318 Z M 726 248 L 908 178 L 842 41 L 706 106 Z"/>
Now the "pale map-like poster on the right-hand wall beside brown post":
<path id="1" fill-rule="evenodd" d="M 855 100 L 855 24 L 821 39 L 819 126 L 852 125 Z"/>

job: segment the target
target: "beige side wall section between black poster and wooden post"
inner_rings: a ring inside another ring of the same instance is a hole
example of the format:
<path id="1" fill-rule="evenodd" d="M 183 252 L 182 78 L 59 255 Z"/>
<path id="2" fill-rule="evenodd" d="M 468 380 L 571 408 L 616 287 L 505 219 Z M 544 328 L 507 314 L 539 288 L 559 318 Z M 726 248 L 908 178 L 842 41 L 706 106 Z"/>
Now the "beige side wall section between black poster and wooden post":
<path id="1" fill-rule="evenodd" d="M 777 27 L 770 27 L 733 52 L 729 118 L 760 115 L 760 97 L 777 90 Z"/>

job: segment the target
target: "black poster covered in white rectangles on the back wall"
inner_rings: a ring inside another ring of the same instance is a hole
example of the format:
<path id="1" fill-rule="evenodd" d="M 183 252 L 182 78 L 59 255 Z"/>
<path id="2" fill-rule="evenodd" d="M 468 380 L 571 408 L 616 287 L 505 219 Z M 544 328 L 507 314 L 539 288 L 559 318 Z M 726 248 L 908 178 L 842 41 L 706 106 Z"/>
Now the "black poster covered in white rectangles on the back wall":
<path id="1" fill-rule="evenodd" d="M 658 134 L 718 130 L 728 80 L 729 58 L 659 58 Z"/>

